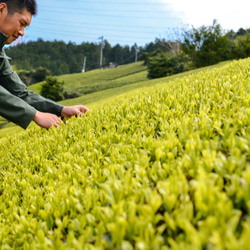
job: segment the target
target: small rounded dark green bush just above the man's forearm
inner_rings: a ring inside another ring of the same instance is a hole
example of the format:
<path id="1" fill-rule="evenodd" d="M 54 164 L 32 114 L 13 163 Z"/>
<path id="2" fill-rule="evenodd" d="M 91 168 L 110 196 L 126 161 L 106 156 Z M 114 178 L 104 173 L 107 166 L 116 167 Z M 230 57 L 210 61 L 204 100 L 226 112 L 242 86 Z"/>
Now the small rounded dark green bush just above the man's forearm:
<path id="1" fill-rule="evenodd" d="M 42 85 L 41 95 L 53 101 L 61 101 L 63 100 L 64 84 L 49 76 L 46 78 L 46 83 Z"/>

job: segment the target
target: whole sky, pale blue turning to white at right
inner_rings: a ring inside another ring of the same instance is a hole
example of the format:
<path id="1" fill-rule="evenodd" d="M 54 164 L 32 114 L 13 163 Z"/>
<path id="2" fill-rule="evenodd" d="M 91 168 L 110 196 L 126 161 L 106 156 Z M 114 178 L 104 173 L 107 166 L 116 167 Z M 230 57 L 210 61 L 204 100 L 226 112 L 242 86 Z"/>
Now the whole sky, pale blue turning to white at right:
<path id="1" fill-rule="evenodd" d="M 81 44 L 107 40 L 111 46 L 142 46 L 156 38 L 179 38 L 182 30 L 210 26 L 250 28 L 249 0 L 37 0 L 22 42 Z"/>

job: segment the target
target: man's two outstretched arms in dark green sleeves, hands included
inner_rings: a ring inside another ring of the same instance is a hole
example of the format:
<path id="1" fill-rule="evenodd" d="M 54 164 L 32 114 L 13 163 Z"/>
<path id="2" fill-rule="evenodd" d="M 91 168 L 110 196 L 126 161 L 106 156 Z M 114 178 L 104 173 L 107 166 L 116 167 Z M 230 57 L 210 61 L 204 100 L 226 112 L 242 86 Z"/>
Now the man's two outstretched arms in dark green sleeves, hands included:
<path id="1" fill-rule="evenodd" d="M 5 53 L 1 56 L 0 115 L 26 128 L 34 120 L 39 126 L 57 127 L 59 116 L 70 118 L 88 111 L 82 105 L 62 106 L 41 95 L 28 91 L 26 85 L 12 70 Z"/>

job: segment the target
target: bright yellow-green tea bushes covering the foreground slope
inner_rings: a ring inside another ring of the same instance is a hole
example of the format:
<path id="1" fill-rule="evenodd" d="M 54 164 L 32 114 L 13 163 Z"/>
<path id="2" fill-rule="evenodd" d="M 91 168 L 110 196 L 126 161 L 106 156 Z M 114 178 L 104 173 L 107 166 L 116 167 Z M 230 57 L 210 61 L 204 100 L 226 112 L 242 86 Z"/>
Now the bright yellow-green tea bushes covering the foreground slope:
<path id="1" fill-rule="evenodd" d="M 1 139 L 1 249 L 249 249 L 250 60 Z"/>

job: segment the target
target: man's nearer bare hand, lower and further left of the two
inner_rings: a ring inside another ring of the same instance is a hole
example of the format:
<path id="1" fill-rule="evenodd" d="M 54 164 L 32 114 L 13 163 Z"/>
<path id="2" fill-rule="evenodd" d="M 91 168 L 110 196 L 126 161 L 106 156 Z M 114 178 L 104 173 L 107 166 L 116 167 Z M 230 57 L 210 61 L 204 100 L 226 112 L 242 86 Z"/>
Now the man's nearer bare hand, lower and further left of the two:
<path id="1" fill-rule="evenodd" d="M 42 113 L 40 111 L 36 111 L 35 117 L 33 121 L 42 128 L 50 128 L 51 126 L 55 126 L 56 128 L 61 124 L 63 121 L 57 116 L 50 113 Z"/>

